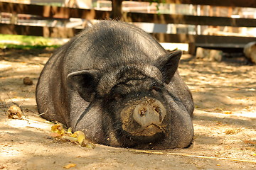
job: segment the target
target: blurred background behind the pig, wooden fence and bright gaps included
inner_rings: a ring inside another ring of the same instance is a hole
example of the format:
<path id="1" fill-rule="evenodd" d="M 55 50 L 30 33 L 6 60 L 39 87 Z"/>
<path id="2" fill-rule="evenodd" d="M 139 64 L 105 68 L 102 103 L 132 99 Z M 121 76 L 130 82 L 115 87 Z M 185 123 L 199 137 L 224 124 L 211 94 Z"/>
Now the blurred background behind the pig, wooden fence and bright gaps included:
<path id="1" fill-rule="evenodd" d="M 179 48 L 193 55 L 197 47 L 242 52 L 256 40 L 252 0 L 1 0 L 0 11 L 1 47 L 62 45 L 82 28 L 109 18 L 134 23 L 167 50 Z M 13 40 L 9 35 L 43 38 Z"/>

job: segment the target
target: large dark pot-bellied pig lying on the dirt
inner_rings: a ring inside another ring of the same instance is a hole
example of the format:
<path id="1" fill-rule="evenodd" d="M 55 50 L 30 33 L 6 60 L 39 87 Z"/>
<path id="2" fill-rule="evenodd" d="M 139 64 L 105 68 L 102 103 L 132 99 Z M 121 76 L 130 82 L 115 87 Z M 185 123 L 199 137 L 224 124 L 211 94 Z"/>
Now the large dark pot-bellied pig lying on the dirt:
<path id="1" fill-rule="evenodd" d="M 60 47 L 36 87 L 38 113 L 91 142 L 172 149 L 193 141 L 193 98 L 167 52 L 140 28 L 100 21 Z"/>

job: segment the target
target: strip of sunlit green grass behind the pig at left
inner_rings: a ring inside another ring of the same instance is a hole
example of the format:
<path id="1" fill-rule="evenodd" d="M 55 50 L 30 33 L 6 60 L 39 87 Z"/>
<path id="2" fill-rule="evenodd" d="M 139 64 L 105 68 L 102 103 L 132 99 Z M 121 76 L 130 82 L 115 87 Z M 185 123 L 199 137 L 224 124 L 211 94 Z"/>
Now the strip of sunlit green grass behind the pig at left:
<path id="1" fill-rule="evenodd" d="M 27 35 L 0 34 L 0 48 L 43 49 L 46 47 L 60 47 L 65 41 L 56 38 L 43 38 Z"/>

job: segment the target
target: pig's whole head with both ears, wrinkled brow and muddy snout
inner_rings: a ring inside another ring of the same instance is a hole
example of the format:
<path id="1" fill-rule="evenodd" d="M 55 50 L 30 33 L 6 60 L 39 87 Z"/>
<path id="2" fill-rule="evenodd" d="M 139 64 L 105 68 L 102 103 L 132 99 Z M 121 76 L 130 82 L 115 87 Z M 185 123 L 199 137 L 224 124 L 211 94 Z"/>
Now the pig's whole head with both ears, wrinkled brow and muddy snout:
<path id="1" fill-rule="evenodd" d="M 117 136 L 130 146 L 157 142 L 171 134 L 171 104 L 165 87 L 180 57 L 177 50 L 154 61 L 117 61 L 103 69 L 73 72 L 68 74 L 70 89 L 87 102 L 101 101 Z"/>

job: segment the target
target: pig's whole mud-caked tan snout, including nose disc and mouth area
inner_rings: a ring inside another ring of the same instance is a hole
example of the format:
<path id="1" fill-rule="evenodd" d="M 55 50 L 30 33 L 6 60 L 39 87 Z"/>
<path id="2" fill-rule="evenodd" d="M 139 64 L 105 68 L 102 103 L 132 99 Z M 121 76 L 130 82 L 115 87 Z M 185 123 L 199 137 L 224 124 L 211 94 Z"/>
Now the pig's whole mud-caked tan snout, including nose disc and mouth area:
<path id="1" fill-rule="evenodd" d="M 133 136 L 144 137 L 165 132 L 166 113 L 166 108 L 156 98 L 144 97 L 121 111 L 122 129 Z"/>

